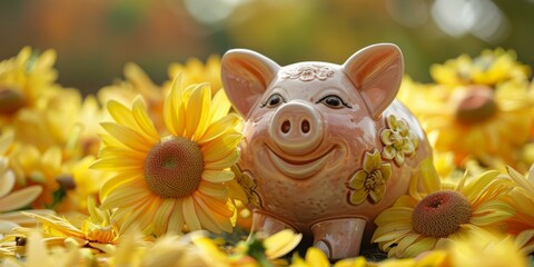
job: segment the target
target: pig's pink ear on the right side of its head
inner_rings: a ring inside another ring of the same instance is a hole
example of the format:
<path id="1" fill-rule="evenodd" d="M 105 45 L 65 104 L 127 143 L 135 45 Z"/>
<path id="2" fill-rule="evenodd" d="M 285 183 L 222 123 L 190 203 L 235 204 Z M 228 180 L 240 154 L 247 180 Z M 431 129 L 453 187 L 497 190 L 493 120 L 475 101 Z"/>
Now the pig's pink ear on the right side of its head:
<path id="1" fill-rule="evenodd" d="M 397 96 L 404 73 L 403 53 L 393 43 L 378 43 L 357 51 L 343 68 L 376 119 Z"/>

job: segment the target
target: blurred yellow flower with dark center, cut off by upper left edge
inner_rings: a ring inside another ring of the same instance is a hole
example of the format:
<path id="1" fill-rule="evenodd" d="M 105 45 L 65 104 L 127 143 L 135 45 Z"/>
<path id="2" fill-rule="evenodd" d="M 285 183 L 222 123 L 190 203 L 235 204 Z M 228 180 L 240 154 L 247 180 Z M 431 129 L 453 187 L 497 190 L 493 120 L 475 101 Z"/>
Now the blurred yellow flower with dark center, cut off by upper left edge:
<path id="1" fill-rule="evenodd" d="M 49 110 L 57 107 L 72 106 L 69 101 L 59 101 L 60 106 L 49 105 L 52 98 L 78 95 L 76 90 L 61 90 L 56 83 L 57 71 L 53 69 L 56 52 L 47 50 L 42 53 L 23 48 L 16 58 L 0 62 L 0 128 L 13 129 L 17 140 L 37 146 L 43 151 L 57 144 L 59 132 L 51 129 L 50 121 L 57 116 Z M 65 121 L 63 121 L 65 122 Z M 68 127 L 62 125 L 62 128 Z M 39 132 L 40 135 L 34 135 Z"/>

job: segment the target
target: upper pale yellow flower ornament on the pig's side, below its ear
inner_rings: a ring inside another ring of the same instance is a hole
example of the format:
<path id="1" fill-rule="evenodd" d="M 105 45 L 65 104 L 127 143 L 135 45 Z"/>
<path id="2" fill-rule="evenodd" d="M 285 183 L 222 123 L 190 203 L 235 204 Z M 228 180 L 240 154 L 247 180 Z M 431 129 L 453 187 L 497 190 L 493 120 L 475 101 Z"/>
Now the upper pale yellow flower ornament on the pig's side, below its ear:
<path id="1" fill-rule="evenodd" d="M 394 115 L 389 115 L 386 121 L 388 128 L 380 131 L 380 140 L 385 146 L 382 157 L 394 159 L 395 164 L 400 166 L 406 157 L 414 155 L 417 149 L 417 137 L 409 131 L 404 120 L 397 119 Z"/>

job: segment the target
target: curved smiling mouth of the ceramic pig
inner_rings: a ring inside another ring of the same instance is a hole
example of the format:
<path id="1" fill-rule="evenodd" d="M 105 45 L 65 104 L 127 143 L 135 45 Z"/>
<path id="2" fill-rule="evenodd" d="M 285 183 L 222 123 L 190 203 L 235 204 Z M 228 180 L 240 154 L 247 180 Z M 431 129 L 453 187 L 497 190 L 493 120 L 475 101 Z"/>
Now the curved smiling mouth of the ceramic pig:
<path id="1" fill-rule="evenodd" d="M 306 179 L 322 170 L 335 148 L 335 146 L 332 147 L 317 158 L 295 160 L 279 156 L 273 151 L 269 146 L 266 147 L 270 161 L 275 165 L 275 167 L 284 175 L 294 179 Z"/>

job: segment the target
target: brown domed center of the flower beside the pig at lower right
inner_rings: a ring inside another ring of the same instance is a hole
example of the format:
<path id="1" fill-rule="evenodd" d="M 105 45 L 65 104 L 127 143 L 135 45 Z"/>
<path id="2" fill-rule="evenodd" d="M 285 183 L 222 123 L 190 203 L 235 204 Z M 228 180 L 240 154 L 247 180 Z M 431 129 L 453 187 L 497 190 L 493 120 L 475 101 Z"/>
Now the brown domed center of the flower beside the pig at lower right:
<path id="1" fill-rule="evenodd" d="M 412 215 L 414 230 L 427 237 L 447 237 L 471 219 L 471 204 L 458 191 L 443 190 L 423 198 Z"/>

